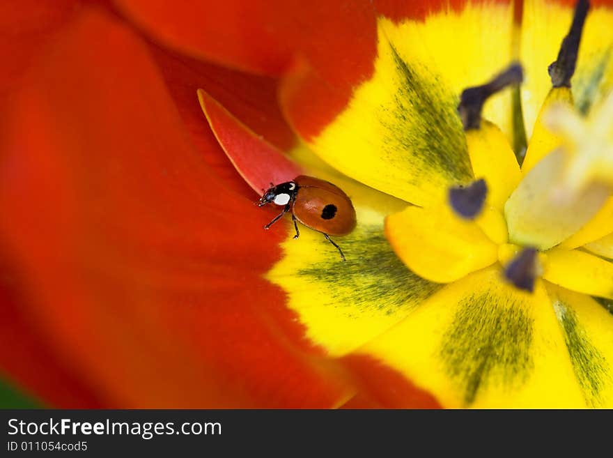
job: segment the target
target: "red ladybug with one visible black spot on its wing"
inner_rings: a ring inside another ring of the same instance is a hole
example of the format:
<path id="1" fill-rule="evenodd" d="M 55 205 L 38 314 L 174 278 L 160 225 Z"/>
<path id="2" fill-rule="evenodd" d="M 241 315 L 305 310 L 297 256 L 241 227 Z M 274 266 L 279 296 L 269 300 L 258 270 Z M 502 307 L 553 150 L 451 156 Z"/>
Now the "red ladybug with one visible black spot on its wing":
<path id="1" fill-rule="evenodd" d="M 341 188 L 319 178 L 300 175 L 279 185 L 270 183 L 270 188 L 264 192 L 258 206 L 266 204 L 282 206 L 283 211 L 266 224 L 264 229 L 270 229 L 272 224 L 290 211 L 296 229 L 294 239 L 300 236 L 296 223 L 300 221 L 305 226 L 321 232 L 326 240 L 339 250 L 345 261 L 343 250 L 329 237 L 346 236 L 355 228 L 355 208 Z"/>

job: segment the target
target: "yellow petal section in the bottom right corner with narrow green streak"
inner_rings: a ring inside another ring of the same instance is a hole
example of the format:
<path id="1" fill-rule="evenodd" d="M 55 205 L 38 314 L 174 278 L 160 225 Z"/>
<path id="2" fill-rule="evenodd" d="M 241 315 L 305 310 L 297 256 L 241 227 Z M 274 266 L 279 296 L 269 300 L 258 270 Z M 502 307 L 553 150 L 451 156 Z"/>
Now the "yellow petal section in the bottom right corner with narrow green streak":
<path id="1" fill-rule="evenodd" d="M 584 294 L 547 285 L 573 370 L 590 407 L 613 406 L 613 315 Z"/>

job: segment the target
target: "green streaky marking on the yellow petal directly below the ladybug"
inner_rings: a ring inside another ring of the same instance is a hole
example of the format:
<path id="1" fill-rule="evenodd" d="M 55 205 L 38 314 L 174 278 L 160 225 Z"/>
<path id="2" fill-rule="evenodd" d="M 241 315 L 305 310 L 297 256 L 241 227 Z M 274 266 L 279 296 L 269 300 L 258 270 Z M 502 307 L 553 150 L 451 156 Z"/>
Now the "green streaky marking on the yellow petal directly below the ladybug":
<path id="1" fill-rule="evenodd" d="M 325 307 L 343 307 L 350 316 L 376 310 L 394 314 L 428 298 L 442 287 L 412 273 L 391 250 L 380 227 L 357 229 L 338 239 L 347 261 L 324 259 L 300 268 L 297 275 L 327 289 Z M 333 253 L 334 254 L 334 253 Z"/>

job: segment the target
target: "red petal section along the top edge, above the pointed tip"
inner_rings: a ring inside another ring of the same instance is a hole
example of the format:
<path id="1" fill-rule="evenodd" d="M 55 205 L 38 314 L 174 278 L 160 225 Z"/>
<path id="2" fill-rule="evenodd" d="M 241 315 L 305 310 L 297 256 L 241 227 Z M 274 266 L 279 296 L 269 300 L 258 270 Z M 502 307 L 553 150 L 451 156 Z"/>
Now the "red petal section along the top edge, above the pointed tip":
<path id="1" fill-rule="evenodd" d="M 155 38 L 194 56 L 279 75 L 304 54 L 326 79 L 371 71 L 375 15 L 367 0 L 116 0 Z M 341 68 L 342 67 L 342 68 Z"/>

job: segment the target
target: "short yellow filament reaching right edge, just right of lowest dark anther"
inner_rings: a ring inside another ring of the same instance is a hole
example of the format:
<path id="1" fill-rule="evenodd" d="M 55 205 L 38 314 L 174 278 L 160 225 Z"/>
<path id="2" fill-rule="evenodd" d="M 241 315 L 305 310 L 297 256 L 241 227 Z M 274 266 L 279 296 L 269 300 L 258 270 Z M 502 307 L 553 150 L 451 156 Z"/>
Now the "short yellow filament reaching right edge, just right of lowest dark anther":
<path id="1" fill-rule="evenodd" d="M 566 289 L 613 298 L 613 263 L 587 252 L 550 250 L 543 278 Z"/>

